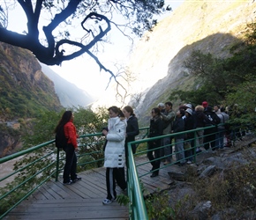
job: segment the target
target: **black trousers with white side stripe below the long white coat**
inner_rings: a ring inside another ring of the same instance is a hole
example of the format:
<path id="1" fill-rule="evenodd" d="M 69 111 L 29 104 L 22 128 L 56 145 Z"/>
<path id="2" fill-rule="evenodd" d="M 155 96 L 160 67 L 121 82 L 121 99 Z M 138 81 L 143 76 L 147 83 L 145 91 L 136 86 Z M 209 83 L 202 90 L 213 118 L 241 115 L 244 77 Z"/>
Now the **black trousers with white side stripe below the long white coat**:
<path id="1" fill-rule="evenodd" d="M 121 168 L 109 168 L 106 169 L 106 184 L 107 184 L 107 199 L 114 200 L 117 198 L 116 192 L 117 185 L 123 190 L 126 188 L 126 181 L 124 179 L 124 167 Z"/>

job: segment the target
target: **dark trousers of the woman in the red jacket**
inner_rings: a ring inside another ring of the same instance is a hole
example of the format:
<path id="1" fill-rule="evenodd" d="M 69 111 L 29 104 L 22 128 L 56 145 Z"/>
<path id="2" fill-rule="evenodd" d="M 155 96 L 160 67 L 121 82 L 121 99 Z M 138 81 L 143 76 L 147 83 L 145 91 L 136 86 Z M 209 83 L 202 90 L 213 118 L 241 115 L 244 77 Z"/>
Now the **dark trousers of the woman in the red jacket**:
<path id="1" fill-rule="evenodd" d="M 71 143 L 64 147 L 66 153 L 65 165 L 64 165 L 64 182 L 77 179 L 77 155 L 75 149 Z"/>

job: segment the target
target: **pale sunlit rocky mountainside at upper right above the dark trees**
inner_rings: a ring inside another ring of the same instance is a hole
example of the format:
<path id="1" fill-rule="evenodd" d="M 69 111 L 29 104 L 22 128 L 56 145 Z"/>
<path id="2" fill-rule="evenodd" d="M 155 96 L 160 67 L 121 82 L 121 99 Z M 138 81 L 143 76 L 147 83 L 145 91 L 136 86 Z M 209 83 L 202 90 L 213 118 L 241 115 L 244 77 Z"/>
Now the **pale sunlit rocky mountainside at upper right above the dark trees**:
<path id="1" fill-rule="evenodd" d="M 142 94 L 136 105 L 139 119 L 148 122 L 149 108 L 167 101 L 171 90 L 192 80 L 183 67 L 192 50 L 229 55 L 246 24 L 255 20 L 255 12 L 254 1 L 185 1 L 147 33 L 129 63 L 137 76 L 132 93 Z"/>

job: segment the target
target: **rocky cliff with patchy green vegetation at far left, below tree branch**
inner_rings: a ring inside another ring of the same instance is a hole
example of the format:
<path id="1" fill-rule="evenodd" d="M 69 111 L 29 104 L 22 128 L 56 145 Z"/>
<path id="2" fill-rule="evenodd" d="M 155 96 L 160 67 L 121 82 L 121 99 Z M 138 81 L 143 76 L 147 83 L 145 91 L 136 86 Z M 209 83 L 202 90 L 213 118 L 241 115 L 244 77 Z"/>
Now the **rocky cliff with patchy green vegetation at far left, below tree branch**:
<path id="1" fill-rule="evenodd" d="M 0 43 L 0 158 L 20 146 L 21 130 L 11 122 L 62 108 L 52 81 L 30 52 Z"/>

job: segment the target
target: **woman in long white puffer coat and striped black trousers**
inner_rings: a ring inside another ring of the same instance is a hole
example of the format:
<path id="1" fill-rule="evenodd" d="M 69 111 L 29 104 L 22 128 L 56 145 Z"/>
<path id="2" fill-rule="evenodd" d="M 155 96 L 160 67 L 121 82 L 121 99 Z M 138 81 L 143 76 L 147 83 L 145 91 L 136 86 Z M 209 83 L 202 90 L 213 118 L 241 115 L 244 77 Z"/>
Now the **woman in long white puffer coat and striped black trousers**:
<path id="1" fill-rule="evenodd" d="M 104 166 L 106 169 L 107 198 L 103 204 L 108 205 L 117 198 L 117 185 L 126 189 L 124 165 L 125 165 L 125 133 L 126 121 L 124 114 L 117 106 L 109 107 L 108 129 L 103 129 L 102 134 L 106 136 L 106 148 L 104 151 Z"/>

